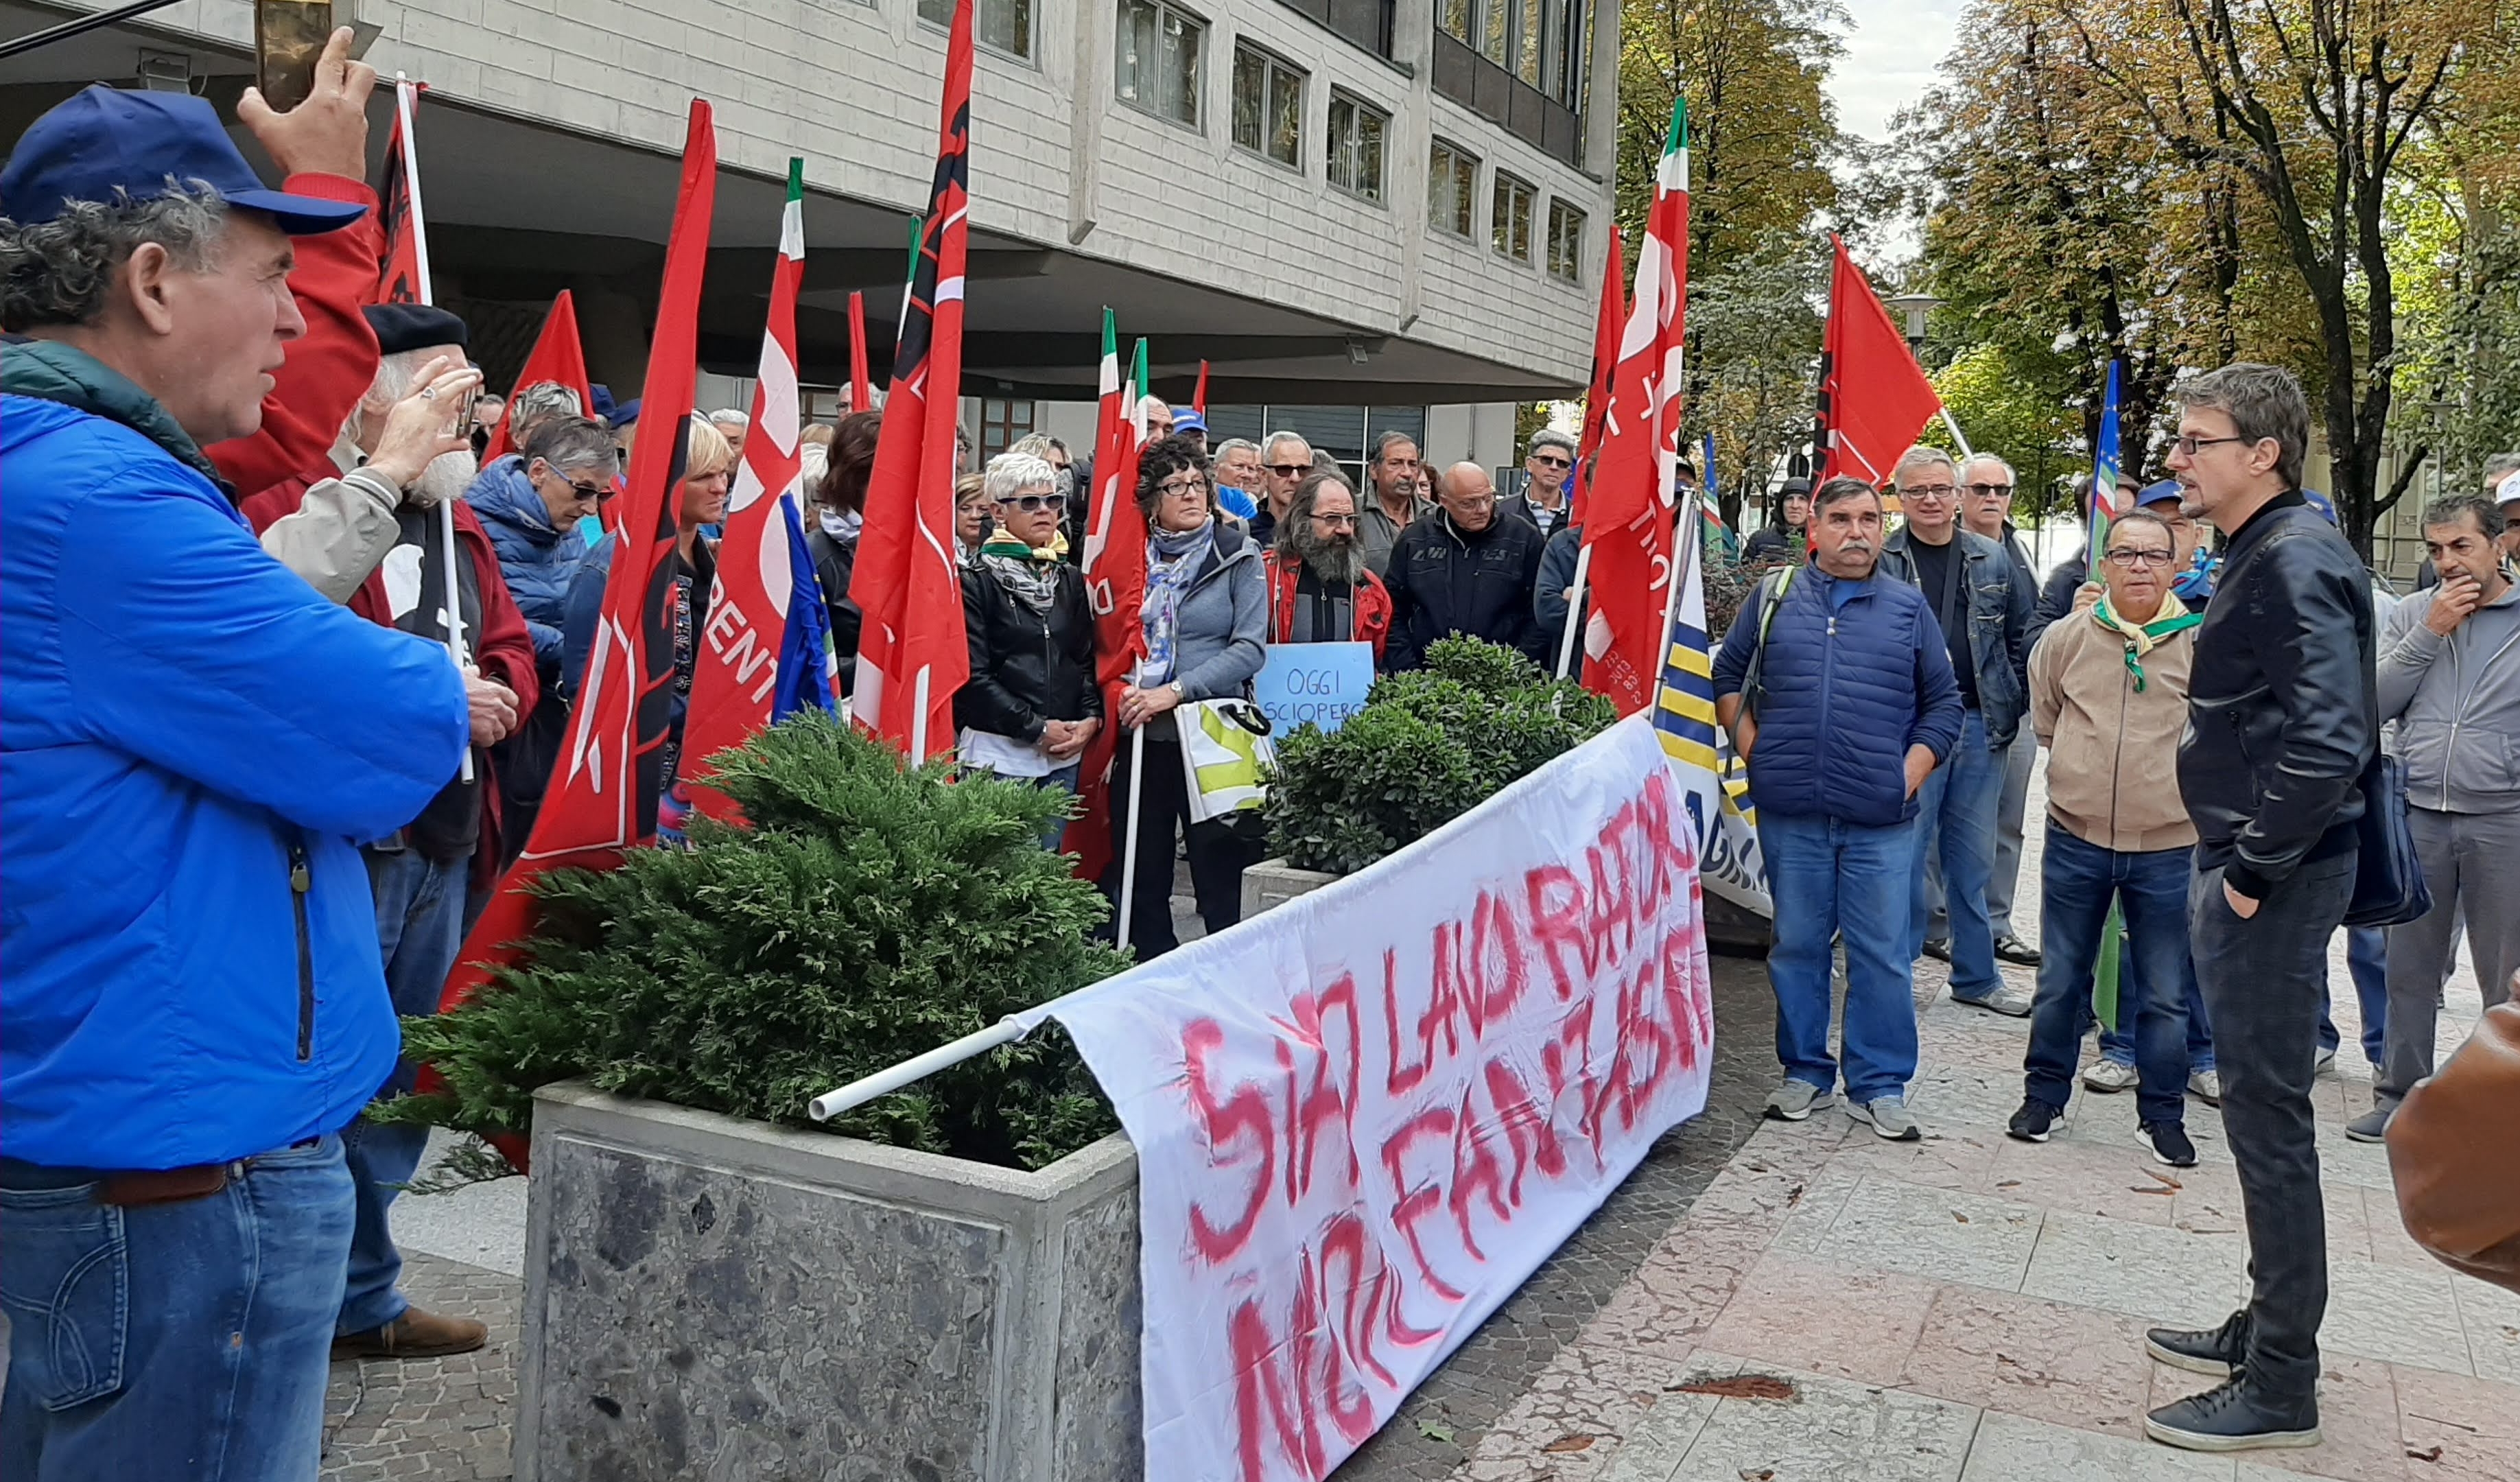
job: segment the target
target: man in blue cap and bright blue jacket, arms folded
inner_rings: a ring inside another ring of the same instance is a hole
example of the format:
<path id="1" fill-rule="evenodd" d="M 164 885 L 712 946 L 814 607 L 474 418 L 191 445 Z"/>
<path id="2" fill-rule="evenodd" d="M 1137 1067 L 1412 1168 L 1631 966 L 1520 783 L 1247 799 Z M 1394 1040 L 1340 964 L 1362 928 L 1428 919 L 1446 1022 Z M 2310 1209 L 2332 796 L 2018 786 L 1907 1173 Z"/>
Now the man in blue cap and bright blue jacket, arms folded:
<path id="1" fill-rule="evenodd" d="M 290 239 L 360 212 L 181 93 L 88 88 L 0 169 L 0 1477 L 318 1469 L 340 1129 L 398 1048 L 355 839 L 486 681 L 265 554 L 202 449 L 305 330 Z"/>

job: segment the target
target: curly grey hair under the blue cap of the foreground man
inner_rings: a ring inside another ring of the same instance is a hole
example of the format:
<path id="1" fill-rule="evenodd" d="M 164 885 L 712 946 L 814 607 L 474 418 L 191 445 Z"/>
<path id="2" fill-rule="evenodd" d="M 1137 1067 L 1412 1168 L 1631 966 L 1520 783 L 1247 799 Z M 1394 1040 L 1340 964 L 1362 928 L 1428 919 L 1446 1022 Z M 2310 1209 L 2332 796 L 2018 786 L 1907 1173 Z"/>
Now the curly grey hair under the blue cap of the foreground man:
<path id="1" fill-rule="evenodd" d="M 0 328 L 93 325 L 134 252 L 156 242 L 184 272 L 209 272 L 224 234 L 227 197 L 174 176 L 146 202 L 116 189 L 111 202 L 63 202 L 50 222 L 0 217 Z"/>

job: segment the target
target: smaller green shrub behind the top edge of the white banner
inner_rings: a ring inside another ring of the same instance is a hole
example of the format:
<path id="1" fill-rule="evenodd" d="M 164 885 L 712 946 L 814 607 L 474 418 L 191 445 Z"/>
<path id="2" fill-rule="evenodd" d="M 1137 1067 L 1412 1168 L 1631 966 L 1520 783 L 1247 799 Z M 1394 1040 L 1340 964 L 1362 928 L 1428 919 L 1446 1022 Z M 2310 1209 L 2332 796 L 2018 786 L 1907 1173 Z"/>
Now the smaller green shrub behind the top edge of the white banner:
<path id="1" fill-rule="evenodd" d="M 1353 875 L 1603 733 L 1618 713 L 1547 681 L 1512 648 L 1446 638 L 1426 668 L 1383 675 L 1338 731 L 1298 726 L 1270 779 L 1270 847 L 1298 870 Z"/>

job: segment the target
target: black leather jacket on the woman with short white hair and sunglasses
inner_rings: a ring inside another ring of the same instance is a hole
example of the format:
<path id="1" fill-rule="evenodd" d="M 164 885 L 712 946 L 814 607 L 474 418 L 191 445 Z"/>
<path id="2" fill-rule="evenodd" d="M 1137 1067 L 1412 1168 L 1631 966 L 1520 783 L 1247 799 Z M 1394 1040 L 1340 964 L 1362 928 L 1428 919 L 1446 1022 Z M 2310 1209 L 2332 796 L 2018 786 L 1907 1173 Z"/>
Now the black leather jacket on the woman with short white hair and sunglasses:
<path id="1" fill-rule="evenodd" d="M 1101 718 L 1094 607 L 1076 567 L 1058 567 L 1058 595 L 1043 615 L 1008 592 L 988 562 L 965 562 L 963 630 L 970 678 L 953 696 L 955 726 L 1038 741 L 1046 721 Z"/>

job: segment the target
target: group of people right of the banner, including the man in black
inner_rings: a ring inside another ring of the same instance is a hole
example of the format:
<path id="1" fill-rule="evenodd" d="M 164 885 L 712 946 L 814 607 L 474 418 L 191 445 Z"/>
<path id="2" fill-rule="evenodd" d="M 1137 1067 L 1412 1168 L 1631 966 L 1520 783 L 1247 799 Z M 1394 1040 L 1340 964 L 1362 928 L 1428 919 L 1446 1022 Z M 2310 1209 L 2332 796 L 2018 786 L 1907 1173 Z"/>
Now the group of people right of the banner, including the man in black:
<path id="1" fill-rule="evenodd" d="M 2250 1238 L 2243 1311 L 2147 1333 L 2157 1361 L 2225 1384 L 2155 1409 L 2147 1432 L 2208 1452 L 2316 1444 L 2328 945 L 2349 930 L 2374 1066 L 2374 1104 L 2346 1127 L 2361 1142 L 2434 1069 L 2457 938 L 2487 1008 L 2520 978 L 2520 456 L 2422 509 L 2434 582 L 2397 600 L 2301 486 L 2308 403 L 2286 370 L 2228 365 L 2177 398 L 2167 476 L 2127 479 L 2124 512 L 2044 592 L 2006 522 L 2003 459 L 1925 446 L 1887 489 L 1789 486 L 1784 522 L 1744 547 L 1782 562 L 1714 660 L 1774 900 L 1784 1079 L 1767 1114 L 1842 1096 L 1875 1134 L 1923 1137 L 1905 1096 L 1923 955 L 1950 965 L 1953 1003 L 2031 1021 L 2021 1142 L 2051 1137 L 2099 1028 L 2082 1084 L 2134 1089 L 2155 1159 L 2195 1164 L 2187 1101 L 2220 1109 Z M 2041 749 L 2034 945 L 2011 902 Z M 2429 905 L 2344 928 L 2371 867 L 2364 812 L 2399 807 Z M 1998 960 L 2036 965 L 2036 988 L 2006 985 Z"/>

